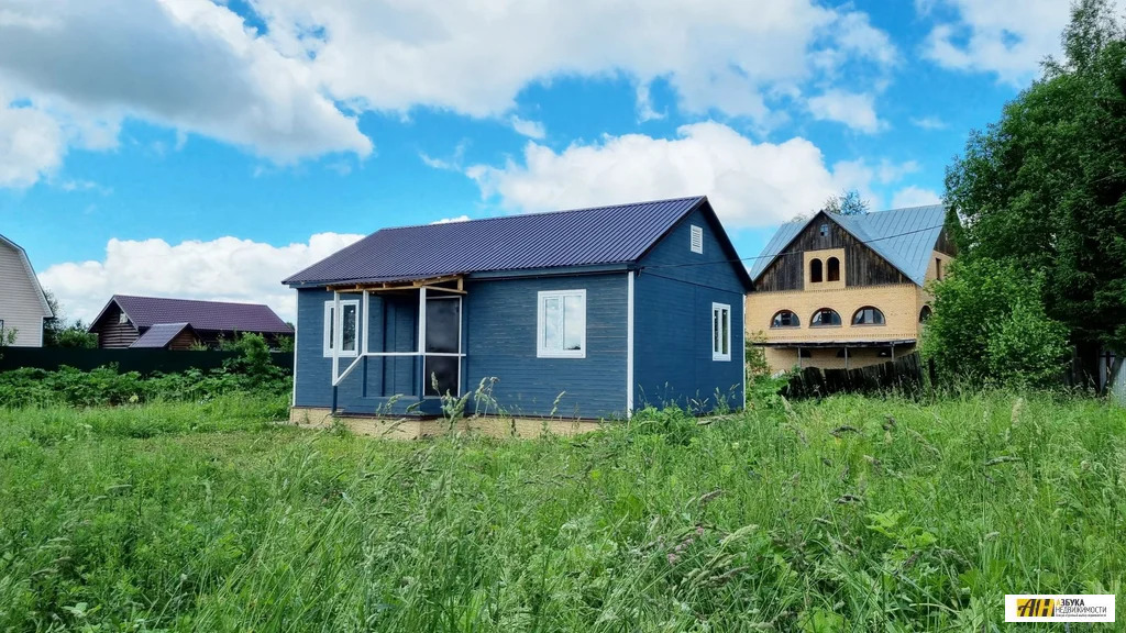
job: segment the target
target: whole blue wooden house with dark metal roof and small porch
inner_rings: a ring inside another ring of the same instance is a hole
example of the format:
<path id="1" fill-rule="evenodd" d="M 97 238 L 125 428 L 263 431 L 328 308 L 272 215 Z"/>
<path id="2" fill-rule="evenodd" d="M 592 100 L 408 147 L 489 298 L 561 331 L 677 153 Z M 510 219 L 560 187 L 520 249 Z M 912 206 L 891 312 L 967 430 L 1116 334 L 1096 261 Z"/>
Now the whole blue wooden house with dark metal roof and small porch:
<path id="1" fill-rule="evenodd" d="M 284 283 L 295 409 L 435 416 L 482 381 L 516 417 L 744 402 L 751 279 L 706 197 L 383 229 Z"/>

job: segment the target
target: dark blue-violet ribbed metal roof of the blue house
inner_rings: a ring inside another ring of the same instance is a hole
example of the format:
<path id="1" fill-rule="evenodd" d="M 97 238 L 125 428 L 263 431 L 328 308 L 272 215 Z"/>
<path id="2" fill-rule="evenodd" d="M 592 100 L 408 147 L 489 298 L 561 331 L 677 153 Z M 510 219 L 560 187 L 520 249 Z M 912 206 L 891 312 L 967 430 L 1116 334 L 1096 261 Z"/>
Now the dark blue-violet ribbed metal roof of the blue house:
<path id="1" fill-rule="evenodd" d="M 494 270 L 629 264 L 637 261 L 678 221 L 706 202 L 706 197 L 696 196 L 383 229 L 283 283 L 370 283 Z"/>

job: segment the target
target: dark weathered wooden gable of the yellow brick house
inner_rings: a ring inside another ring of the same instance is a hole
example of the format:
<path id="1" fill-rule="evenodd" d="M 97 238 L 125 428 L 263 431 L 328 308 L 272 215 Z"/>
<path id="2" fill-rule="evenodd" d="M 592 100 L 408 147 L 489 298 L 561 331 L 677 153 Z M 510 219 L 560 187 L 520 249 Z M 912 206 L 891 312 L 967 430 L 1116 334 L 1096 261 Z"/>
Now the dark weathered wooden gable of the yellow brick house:
<path id="1" fill-rule="evenodd" d="M 825 228 L 823 230 L 822 228 Z M 811 250 L 844 249 L 844 285 L 878 286 L 910 284 L 911 279 L 892 266 L 872 247 L 856 239 L 824 212 L 817 213 L 805 228 L 767 266 L 754 284 L 756 292 L 805 289 L 804 258 Z"/>

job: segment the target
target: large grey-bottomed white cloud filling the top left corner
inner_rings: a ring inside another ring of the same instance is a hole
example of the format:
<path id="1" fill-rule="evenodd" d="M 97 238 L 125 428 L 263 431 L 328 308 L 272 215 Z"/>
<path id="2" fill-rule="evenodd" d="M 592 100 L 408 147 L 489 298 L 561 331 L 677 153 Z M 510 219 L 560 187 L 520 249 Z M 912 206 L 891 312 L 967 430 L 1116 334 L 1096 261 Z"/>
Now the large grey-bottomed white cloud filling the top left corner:
<path id="1" fill-rule="evenodd" d="M 209 0 L 2 5 L 0 92 L 8 99 L 0 107 L 9 107 L 0 116 L 15 112 L 38 121 L 30 131 L 0 123 L 0 148 L 35 134 L 44 149 L 33 158 L 44 158 L 0 185 L 34 182 L 57 167 L 68 146 L 115 146 L 126 117 L 218 139 L 283 163 L 372 151 L 356 121 L 320 89 L 307 60 L 280 54 L 241 17 Z M 15 101 L 21 107 L 10 108 Z M 55 130 L 48 133 L 50 127 Z"/>

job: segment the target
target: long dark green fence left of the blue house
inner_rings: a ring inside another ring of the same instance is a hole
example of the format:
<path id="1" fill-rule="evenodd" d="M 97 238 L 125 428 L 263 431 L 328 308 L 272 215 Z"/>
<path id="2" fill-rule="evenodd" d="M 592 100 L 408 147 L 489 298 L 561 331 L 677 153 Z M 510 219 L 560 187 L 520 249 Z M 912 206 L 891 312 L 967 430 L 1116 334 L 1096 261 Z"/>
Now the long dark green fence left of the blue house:
<path id="1" fill-rule="evenodd" d="M 179 351 L 169 349 L 74 349 L 65 347 L 6 347 L 0 351 L 0 372 L 32 367 L 53 372 L 63 365 L 89 372 L 106 365 L 117 365 L 120 372 L 164 374 L 186 369 L 216 369 L 238 358 L 238 351 Z M 278 367 L 293 372 L 292 351 L 271 351 Z"/>

